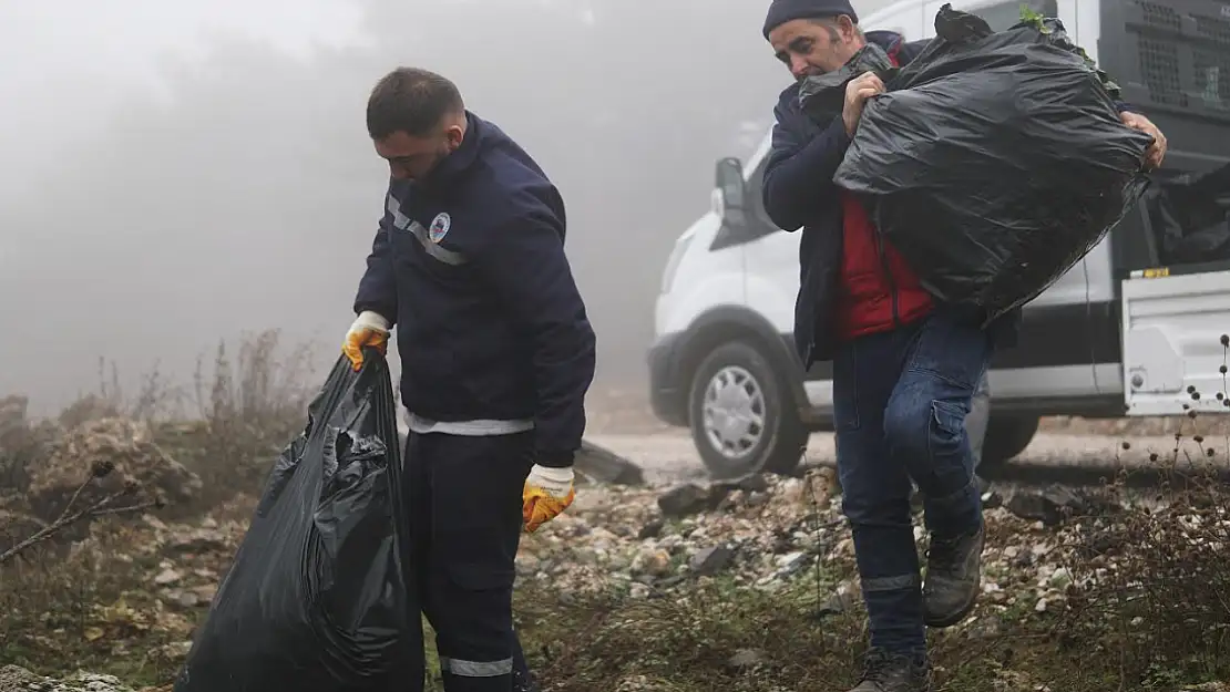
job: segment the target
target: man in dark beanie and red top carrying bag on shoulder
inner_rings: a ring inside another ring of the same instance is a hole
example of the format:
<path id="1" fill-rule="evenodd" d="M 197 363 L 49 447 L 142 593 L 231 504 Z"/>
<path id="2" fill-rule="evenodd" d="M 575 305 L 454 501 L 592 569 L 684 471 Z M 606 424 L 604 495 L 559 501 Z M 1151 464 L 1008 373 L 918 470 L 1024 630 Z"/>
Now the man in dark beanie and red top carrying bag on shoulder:
<path id="1" fill-rule="evenodd" d="M 854 533 L 871 650 L 851 692 L 930 688 L 925 627 L 963 619 L 979 591 L 983 519 L 964 419 L 993 350 L 1015 339 L 1020 313 L 984 331 L 973 310 L 941 305 L 863 208 L 833 183 L 863 104 L 884 85 L 867 73 L 846 87 L 841 117 L 815 123 L 800 108 L 798 82 L 843 66 L 867 41 L 895 64 L 925 43 L 863 32 L 849 0 L 774 0 L 764 36 L 796 82 L 774 112 L 764 206 L 787 231 L 803 229 L 795 339 L 804 368 L 833 361 L 834 427 L 843 509 Z M 1166 140 L 1121 106 L 1123 122 Z M 910 520 L 910 481 L 930 530 L 926 583 Z"/>

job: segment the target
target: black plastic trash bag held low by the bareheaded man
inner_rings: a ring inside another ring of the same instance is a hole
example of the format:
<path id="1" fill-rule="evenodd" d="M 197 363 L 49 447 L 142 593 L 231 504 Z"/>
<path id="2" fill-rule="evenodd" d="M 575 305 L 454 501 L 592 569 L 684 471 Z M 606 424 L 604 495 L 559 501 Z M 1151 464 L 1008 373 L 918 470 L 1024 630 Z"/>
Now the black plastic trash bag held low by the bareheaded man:
<path id="1" fill-rule="evenodd" d="M 175 692 L 422 690 L 392 385 L 339 358 L 282 452 Z M 408 619 L 413 617 L 415 619 Z"/>

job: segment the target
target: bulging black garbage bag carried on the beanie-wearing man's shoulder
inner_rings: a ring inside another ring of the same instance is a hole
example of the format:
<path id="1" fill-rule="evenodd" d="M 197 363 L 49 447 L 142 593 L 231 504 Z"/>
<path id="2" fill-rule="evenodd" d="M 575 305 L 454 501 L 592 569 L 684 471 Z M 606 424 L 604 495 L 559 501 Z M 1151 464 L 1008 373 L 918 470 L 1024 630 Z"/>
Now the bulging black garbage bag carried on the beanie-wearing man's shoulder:
<path id="1" fill-rule="evenodd" d="M 1037 297 L 1133 208 L 1153 138 L 1121 122 L 1118 87 L 1058 20 L 993 33 L 945 5 L 935 26 L 867 103 L 834 182 L 930 293 L 990 318 Z"/>

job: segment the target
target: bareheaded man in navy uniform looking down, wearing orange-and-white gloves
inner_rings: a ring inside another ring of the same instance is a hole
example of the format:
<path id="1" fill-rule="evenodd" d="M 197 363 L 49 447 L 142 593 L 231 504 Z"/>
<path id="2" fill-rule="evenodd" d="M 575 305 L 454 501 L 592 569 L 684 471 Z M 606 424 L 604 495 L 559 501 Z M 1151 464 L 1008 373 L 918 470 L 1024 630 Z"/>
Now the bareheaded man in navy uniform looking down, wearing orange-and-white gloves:
<path id="1" fill-rule="evenodd" d="M 528 690 L 514 558 L 523 525 L 572 501 L 594 376 L 563 200 L 439 75 L 390 73 L 367 125 L 391 179 L 343 352 L 358 368 L 397 328 L 413 564 L 444 688 Z"/>

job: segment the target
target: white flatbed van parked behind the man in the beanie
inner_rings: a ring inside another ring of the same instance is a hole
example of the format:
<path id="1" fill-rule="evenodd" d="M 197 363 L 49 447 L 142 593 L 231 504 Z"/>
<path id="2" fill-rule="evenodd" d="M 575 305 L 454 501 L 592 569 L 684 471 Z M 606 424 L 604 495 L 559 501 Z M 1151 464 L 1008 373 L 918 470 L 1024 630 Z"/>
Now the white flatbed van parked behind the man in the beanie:
<path id="1" fill-rule="evenodd" d="M 862 18 L 908 41 L 935 36 L 946 0 L 907 0 Z M 953 0 L 995 29 L 1021 6 L 1058 16 L 1166 133 L 1159 176 L 1230 162 L 1230 5 L 1214 0 Z M 766 48 L 768 50 L 768 48 Z M 766 53 L 766 59 L 771 59 Z M 765 103 L 770 111 L 772 103 Z M 744 163 L 717 162 L 712 209 L 675 241 L 654 307 L 651 399 L 689 427 L 715 476 L 790 472 L 812 431 L 831 429 L 831 364 L 795 353 L 800 232 L 761 208 L 765 134 Z M 1221 191 L 1225 193 L 1226 191 Z M 1023 310 L 1020 343 L 991 364 L 983 467 L 1020 454 L 1043 415 L 1226 412 L 1230 257 L 1176 265 L 1144 206 Z M 1204 392 L 1202 398 L 1193 398 Z"/>

